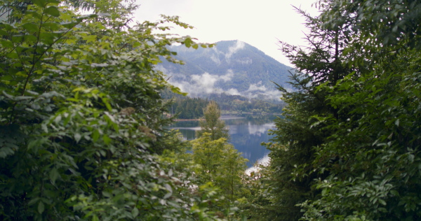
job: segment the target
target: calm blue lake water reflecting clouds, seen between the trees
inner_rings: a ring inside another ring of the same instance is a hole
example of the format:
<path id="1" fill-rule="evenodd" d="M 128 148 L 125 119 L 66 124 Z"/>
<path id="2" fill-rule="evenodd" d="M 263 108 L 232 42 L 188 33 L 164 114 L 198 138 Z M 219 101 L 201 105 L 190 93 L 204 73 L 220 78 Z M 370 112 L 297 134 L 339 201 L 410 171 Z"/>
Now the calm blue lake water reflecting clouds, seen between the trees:
<path id="1" fill-rule="evenodd" d="M 268 142 L 273 135 L 268 134 L 269 129 L 274 129 L 274 115 L 222 115 L 225 125 L 229 129 L 229 143 L 242 152 L 243 157 L 248 159 L 247 166 L 253 166 L 255 162 L 263 159 L 269 153 L 262 142 Z M 187 140 L 193 140 L 195 131 L 199 130 L 199 121 L 179 121 L 172 125 L 171 129 L 178 129 Z"/>

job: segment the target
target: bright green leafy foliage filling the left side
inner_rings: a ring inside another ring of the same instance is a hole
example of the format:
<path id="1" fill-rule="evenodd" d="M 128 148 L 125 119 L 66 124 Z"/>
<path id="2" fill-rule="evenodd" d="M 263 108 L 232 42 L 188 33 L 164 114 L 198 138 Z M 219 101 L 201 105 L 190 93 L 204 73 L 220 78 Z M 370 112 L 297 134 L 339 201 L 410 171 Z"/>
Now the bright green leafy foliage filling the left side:
<path id="1" fill-rule="evenodd" d="M 160 96 L 178 89 L 154 65 L 178 62 L 166 46 L 196 43 L 152 33 L 186 24 L 127 29 L 135 6 L 86 3 L 97 14 L 33 1 L 0 22 L 0 219 L 216 220 L 206 204 L 214 190 L 194 195 L 188 169 L 157 155 L 182 143 L 164 129 Z"/>

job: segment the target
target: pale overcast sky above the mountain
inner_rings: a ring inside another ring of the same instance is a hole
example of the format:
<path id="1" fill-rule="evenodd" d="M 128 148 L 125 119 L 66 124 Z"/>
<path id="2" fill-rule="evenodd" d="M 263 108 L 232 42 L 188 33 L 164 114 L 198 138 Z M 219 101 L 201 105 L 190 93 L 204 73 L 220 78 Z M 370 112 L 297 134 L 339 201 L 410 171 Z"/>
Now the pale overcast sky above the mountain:
<path id="1" fill-rule="evenodd" d="M 278 39 L 305 45 L 305 19 L 293 6 L 316 15 L 316 0 L 138 0 L 136 20 L 159 20 L 159 15 L 178 15 L 193 30 L 174 29 L 173 33 L 198 38 L 201 43 L 225 40 L 244 41 L 279 62 L 290 65 L 276 45 Z"/>

